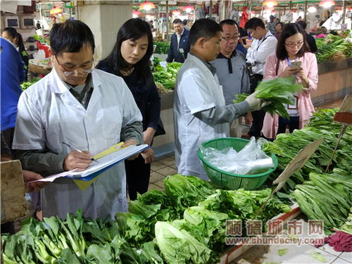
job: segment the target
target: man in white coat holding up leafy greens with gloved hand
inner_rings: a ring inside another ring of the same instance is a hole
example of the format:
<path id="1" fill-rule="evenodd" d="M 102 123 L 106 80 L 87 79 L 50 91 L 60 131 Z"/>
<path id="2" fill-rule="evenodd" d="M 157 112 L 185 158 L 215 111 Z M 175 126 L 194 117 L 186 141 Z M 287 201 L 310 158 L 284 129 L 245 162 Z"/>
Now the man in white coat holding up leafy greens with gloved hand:
<path id="1" fill-rule="evenodd" d="M 174 103 L 175 158 L 177 172 L 208 179 L 197 150 L 203 142 L 227 137 L 229 122 L 265 106 L 249 96 L 246 101 L 225 105 L 216 69 L 209 61 L 220 51 L 221 27 L 213 20 L 199 19 L 189 32 L 191 51 L 177 75 Z"/>

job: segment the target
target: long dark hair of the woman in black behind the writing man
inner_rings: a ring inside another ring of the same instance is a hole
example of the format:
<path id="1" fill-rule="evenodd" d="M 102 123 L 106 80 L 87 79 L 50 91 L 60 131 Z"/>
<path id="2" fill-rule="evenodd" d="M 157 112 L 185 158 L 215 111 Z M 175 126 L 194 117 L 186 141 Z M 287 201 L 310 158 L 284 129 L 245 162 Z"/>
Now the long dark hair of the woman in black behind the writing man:
<path id="1" fill-rule="evenodd" d="M 130 68 L 130 65 L 125 61 L 121 54 L 121 44 L 127 39 L 137 40 L 143 36 L 148 37 L 148 48 L 143 58 L 134 64 L 134 71 L 144 81 L 149 82 L 152 80 L 151 68 L 149 67 L 149 59 L 153 55 L 153 36 L 151 34 L 151 28 L 146 21 L 140 18 L 131 18 L 127 20 L 118 30 L 118 37 L 116 39 L 115 46 L 111 53 L 103 59 L 108 65 L 108 68 L 112 69 L 113 74 L 121 76 L 120 70 Z"/>

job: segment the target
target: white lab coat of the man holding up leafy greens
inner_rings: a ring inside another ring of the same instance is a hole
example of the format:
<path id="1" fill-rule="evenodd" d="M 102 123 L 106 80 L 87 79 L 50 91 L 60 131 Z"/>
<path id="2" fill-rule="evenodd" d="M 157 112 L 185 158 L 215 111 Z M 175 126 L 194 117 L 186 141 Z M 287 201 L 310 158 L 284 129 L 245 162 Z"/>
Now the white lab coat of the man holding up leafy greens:
<path id="1" fill-rule="evenodd" d="M 197 151 L 207 140 L 226 137 L 229 124 L 210 126 L 196 118 L 194 113 L 214 106 L 225 106 L 218 77 L 199 58 L 189 54 L 177 75 L 175 88 L 175 159 L 178 173 L 208 180 Z"/>

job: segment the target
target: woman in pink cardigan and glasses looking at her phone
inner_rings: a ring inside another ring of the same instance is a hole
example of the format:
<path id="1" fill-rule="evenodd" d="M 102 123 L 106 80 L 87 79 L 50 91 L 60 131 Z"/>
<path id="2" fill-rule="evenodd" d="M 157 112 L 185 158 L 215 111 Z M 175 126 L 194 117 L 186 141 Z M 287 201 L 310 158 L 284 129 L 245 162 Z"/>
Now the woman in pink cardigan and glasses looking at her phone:
<path id="1" fill-rule="evenodd" d="M 262 129 L 264 137 L 275 139 L 277 134 L 286 131 L 287 126 L 290 132 L 303 128 L 315 111 L 310 94 L 318 86 L 318 64 L 315 55 L 308 51 L 304 30 L 296 23 L 284 25 L 276 53 L 270 54 L 265 63 L 264 80 L 294 75 L 296 82 L 302 83 L 303 91 L 295 95 L 294 105 L 285 106 L 289 120 L 277 114 L 273 118 L 269 113 L 265 114 Z M 294 62 L 301 63 L 301 66 Z"/>

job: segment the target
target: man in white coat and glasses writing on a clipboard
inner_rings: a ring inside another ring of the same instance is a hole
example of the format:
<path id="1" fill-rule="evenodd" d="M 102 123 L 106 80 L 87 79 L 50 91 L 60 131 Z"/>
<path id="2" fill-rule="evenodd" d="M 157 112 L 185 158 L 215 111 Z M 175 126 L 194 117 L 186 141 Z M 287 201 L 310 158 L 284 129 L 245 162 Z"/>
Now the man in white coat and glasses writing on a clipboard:
<path id="1" fill-rule="evenodd" d="M 142 115 L 122 78 L 92 70 L 94 36 L 78 20 L 50 32 L 54 69 L 20 96 L 13 149 L 23 168 L 43 176 L 84 170 L 91 158 L 120 141 L 141 144 Z M 83 152 L 71 149 L 83 150 Z M 96 162 L 96 161 L 93 161 Z M 124 163 L 81 190 L 60 178 L 42 189 L 43 215 L 105 218 L 127 210 Z"/>

